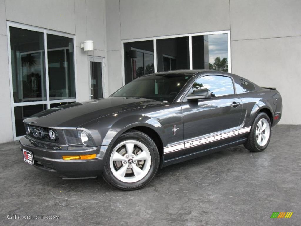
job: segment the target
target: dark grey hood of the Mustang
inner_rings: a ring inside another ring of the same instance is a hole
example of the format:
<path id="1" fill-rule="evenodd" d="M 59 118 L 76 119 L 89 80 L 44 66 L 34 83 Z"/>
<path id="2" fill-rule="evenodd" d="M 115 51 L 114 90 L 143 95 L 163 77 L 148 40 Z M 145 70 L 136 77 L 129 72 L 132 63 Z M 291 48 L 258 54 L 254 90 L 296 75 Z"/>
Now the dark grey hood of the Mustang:
<path id="1" fill-rule="evenodd" d="M 26 118 L 24 122 L 42 127 L 79 127 L 106 115 L 158 104 L 164 103 L 144 98 L 108 97 L 50 108 Z"/>

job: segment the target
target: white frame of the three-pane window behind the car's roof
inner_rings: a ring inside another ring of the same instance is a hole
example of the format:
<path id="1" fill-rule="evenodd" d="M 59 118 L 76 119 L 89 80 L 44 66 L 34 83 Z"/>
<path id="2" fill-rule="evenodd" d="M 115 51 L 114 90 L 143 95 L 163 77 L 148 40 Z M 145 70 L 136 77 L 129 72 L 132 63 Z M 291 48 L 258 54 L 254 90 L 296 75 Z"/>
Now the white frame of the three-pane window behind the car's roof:
<path id="1" fill-rule="evenodd" d="M 158 72 L 158 68 L 157 68 L 157 66 L 158 66 L 158 64 L 157 64 L 157 42 L 156 42 L 157 39 L 179 38 L 179 37 L 187 37 L 188 36 L 188 40 L 189 40 L 189 69 L 193 70 L 192 69 L 192 36 L 215 35 L 215 34 L 227 34 L 227 38 L 228 38 L 228 72 L 231 73 L 231 36 L 230 36 L 230 30 L 213 31 L 213 32 L 201 32 L 201 33 L 189 33 L 189 34 L 180 34 L 180 35 L 156 36 L 156 37 L 150 37 L 150 38 L 122 39 L 121 40 L 122 86 L 125 85 L 124 43 L 153 40 L 154 41 L 154 73 L 156 73 L 156 72 Z"/>

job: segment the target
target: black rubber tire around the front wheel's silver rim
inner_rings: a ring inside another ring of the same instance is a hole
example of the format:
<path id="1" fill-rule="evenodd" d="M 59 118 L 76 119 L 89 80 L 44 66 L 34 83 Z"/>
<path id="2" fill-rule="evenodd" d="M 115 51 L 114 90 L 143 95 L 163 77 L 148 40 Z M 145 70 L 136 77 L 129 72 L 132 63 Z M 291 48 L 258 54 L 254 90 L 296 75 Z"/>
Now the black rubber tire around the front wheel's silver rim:
<path id="1" fill-rule="evenodd" d="M 126 183 L 123 182 L 119 179 L 117 179 L 110 168 L 110 156 L 114 150 L 114 148 L 121 142 L 126 141 L 126 140 L 137 140 L 143 143 L 149 150 L 151 154 L 151 167 L 148 171 L 148 173 L 141 179 L 138 180 L 137 182 L 133 183 Z M 102 177 L 104 180 L 110 184 L 113 187 L 119 188 L 121 190 L 136 190 L 141 187 L 144 187 L 147 185 L 151 179 L 156 175 L 160 165 L 160 155 L 158 148 L 154 141 L 151 139 L 151 137 L 147 136 L 145 133 L 142 133 L 138 130 L 129 130 L 126 133 L 123 133 L 113 144 L 108 156 L 106 163 L 104 165 L 104 171 L 102 173 Z"/>

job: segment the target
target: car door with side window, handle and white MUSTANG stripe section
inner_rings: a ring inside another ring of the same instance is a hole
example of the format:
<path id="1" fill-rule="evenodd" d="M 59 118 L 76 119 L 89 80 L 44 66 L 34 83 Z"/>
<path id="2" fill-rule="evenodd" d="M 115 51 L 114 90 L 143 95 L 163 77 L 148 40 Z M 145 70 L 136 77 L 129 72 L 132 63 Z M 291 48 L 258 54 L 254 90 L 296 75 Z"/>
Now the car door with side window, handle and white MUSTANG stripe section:
<path id="1" fill-rule="evenodd" d="M 187 99 L 187 96 L 193 95 L 193 90 L 200 89 L 210 90 L 211 98 Z M 231 77 L 198 77 L 181 105 L 185 155 L 237 139 L 242 102 L 234 93 Z"/>

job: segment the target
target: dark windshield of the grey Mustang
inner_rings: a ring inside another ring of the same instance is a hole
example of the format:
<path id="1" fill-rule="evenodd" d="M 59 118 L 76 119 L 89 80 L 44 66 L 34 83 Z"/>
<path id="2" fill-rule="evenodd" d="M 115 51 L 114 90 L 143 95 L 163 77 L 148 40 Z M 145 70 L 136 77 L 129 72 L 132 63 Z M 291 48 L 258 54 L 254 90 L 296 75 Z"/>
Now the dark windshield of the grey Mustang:
<path id="1" fill-rule="evenodd" d="M 192 73 L 153 74 L 139 77 L 121 87 L 111 97 L 141 97 L 172 102 L 192 75 Z"/>

